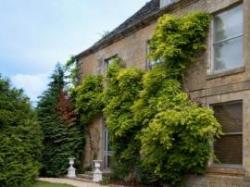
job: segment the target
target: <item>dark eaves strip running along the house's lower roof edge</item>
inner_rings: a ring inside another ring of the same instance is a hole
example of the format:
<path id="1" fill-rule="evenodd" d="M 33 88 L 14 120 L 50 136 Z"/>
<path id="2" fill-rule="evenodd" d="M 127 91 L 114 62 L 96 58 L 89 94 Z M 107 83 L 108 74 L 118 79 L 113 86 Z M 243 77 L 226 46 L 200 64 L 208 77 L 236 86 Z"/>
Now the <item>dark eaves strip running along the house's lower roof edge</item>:
<path id="1" fill-rule="evenodd" d="M 149 14 L 147 17 L 145 17 L 143 20 L 138 20 L 136 23 L 128 26 L 126 29 L 121 31 L 120 33 L 115 34 L 111 38 L 107 39 L 106 41 L 104 40 L 103 42 L 100 41 L 100 44 L 93 45 L 90 48 L 84 50 L 83 52 L 79 53 L 78 55 L 75 56 L 76 60 L 78 61 L 80 58 L 83 58 L 85 56 L 88 56 L 92 53 L 95 53 L 96 51 L 99 51 L 111 44 L 113 44 L 116 41 L 119 41 L 131 33 L 137 32 L 138 30 L 145 28 L 146 26 L 150 25 L 153 21 L 156 21 L 160 16 L 162 16 L 164 13 L 174 10 L 178 8 L 178 5 L 183 2 L 194 2 L 194 1 L 199 1 L 199 0 L 179 0 L 173 4 L 170 4 L 169 6 L 159 9 L 158 11 L 155 11 L 151 14 Z"/>

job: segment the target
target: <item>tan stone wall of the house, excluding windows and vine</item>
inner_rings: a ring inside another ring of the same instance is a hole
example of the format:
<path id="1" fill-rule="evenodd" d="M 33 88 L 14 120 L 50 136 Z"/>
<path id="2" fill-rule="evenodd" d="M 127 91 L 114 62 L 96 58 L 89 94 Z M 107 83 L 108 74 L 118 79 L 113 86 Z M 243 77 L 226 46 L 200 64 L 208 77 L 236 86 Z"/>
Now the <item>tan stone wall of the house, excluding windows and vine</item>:
<path id="1" fill-rule="evenodd" d="M 190 11 L 207 11 L 212 15 L 236 4 L 244 5 L 244 61 L 245 66 L 227 73 L 211 75 L 211 32 L 207 40 L 207 50 L 190 67 L 185 76 L 184 88 L 191 97 L 204 106 L 210 104 L 242 100 L 243 101 L 243 165 L 240 168 L 220 166 L 208 167 L 208 175 L 189 177 L 187 186 L 250 186 L 250 0 L 183 0 L 169 10 L 169 13 L 183 15 Z M 147 41 L 152 37 L 156 21 L 135 31 L 129 36 L 100 49 L 79 60 L 82 77 L 102 72 L 104 60 L 119 55 L 128 67 L 147 68 Z M 100 125 L 100 124 L 99 124 Z M 93 128 L 91 125 L 90 128 Z M 101 137 L 101 132 L 100 137 Z M 100 139 L 101 140 L 101 139 Z M 97 143 L 97 142 L 96 142 Z M 101 143 L 97 143 L 101 145 Z M 88 142 L 87 142 L 88 146 Z M 230 146 L 230 145 L 228 145 Z M 99 153 L 101 157 L 101 153 Z M 216 175 L 214 174 L 216 173 Z"/>

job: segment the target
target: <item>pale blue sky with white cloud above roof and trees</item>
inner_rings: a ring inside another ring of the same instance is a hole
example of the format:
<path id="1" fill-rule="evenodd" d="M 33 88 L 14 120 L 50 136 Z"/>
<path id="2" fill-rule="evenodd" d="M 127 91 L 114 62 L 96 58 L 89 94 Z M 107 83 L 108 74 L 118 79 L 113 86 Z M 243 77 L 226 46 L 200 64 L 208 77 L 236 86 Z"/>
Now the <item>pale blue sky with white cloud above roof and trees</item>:
<path id="1" fill-rule="evenodd" d="M 31 101 L 64 63 L 148 0 L 0 0 L 0 74 Z"/>

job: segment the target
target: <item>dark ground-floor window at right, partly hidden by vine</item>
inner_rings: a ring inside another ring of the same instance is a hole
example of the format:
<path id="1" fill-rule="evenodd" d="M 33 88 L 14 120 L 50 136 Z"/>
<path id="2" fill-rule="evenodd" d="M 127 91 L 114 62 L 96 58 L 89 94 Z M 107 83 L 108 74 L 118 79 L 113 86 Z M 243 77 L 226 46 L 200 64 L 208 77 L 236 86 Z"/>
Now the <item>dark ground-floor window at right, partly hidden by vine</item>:
<path id="1" fill-rule="evenodd" d="M 214 114 L 224 135 L 214 142 L 215 162 L 242 164 L 242 102 L 215 104 Z"/>

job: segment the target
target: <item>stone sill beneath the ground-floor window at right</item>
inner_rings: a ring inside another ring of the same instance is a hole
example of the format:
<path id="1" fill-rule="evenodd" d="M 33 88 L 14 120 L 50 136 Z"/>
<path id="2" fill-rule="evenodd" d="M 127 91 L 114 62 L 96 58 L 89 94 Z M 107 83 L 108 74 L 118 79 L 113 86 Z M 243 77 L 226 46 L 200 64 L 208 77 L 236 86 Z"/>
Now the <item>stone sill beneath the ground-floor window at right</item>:
<path id="1" fill-rule="evenodd" d="M 242 165 L 213 164 L 208 167 L 207 173 L 243 176 L 244 170 L 242 168 Z"/>

